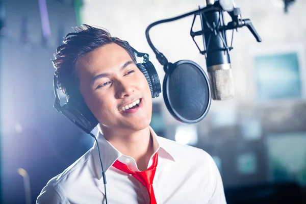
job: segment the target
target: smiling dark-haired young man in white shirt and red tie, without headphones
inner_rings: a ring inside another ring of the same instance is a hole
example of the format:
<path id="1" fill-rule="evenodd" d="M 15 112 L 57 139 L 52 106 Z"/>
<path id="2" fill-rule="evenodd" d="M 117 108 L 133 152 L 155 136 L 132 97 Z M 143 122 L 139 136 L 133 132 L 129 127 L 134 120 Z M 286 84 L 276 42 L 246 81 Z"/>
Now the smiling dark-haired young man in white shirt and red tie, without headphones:
<path id="1" fill-rule="evenodd" d="M 54 65 L 67 98 L 83 100 L 99 122 L 108 203 L 226 203 L 212 157 L 149 126 L 150 88 L 128 43 L 83 25 L 58 47 Z M 144 174 L 151 181 L 139 179 Z M 106 203 L 97 144 L 50 180 L 36 203 Z"/>

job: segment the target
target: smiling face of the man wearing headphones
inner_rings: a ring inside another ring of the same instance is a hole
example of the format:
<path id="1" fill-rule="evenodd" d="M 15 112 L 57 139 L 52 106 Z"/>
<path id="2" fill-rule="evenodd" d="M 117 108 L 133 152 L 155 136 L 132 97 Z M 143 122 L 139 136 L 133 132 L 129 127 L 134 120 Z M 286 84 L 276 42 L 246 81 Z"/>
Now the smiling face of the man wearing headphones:
<path id="1" fill-rule="evenodd" d="M 85 103 L 103 128 L 143 130 L 149 125 L 149 85 L 123 47 L 111 43 L 93 50 L 81 58 L 77 73 Z M 134 106 L 123 109 L 128 105 Z"/>

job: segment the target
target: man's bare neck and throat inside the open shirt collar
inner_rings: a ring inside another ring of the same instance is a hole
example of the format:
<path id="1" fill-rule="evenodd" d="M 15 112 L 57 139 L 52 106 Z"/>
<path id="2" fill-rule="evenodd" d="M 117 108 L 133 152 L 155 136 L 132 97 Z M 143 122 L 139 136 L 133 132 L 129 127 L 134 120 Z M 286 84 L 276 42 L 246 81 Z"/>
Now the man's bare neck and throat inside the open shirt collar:
<path id="1" fill-rule="evenodd" d="M 136 161 L 140 171 L 147 169 L 149 159 L 154 153 L 149 126 L 139 131 L 110 130 L 104 126 L 100 126 L 100 130 L 116 149 Z"/>

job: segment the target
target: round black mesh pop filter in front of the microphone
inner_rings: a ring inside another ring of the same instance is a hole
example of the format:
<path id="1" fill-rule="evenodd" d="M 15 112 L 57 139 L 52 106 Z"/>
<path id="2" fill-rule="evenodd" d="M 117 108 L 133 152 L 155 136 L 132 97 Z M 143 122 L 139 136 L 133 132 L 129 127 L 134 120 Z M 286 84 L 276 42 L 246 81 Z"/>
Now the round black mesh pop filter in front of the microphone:
<path id="1" fill-rule="evenodd" d="M 165 66 L 163 96 L 171 115 L 184 123 L 196 123 L 208 113 L 211 105 L 209 80 L 195 62 L 181 60 Z"/>

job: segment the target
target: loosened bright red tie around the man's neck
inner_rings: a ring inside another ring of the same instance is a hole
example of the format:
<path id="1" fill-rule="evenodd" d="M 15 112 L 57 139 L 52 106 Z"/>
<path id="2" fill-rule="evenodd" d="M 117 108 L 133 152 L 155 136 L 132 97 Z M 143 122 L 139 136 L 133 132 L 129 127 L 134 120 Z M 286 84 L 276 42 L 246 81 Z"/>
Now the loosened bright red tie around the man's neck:
<path id="1" fill-rule="evenodd" d="M 145 171 L 132 171 L 126 164 L 123 164 L 118 160 L 116 160 L 115 163 L 113 164 L 113 166 L 119 169 L 120 171 L 133 175 L 135 179 L 137 179 L 140 183 L 142 183 L 142 185 L 146 187 L 150 196 L 150 204 L 156 204 L 156 199 L 152 184 L 157 167 L 157 157 L 158 154 L 156 152 L 156 154 L 153 157 L 152 165 Z"/>

